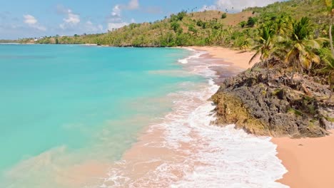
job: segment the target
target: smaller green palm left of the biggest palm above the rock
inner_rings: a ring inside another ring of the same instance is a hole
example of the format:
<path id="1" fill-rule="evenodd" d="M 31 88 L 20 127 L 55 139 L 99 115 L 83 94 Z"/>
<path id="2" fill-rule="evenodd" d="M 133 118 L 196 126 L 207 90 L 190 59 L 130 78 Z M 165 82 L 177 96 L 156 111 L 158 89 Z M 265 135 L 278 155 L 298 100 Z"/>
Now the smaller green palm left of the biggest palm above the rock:
<path id="1" fill-rule="evenodd" d="M 275 33 L 273 28 L 270 25 L 263 25 L 258 29 L 258 32 L 258 38 L 256 39 L 258 45 L 253 48 L 253 51 L 256 52 L 249 61 L 250 64 L 258 56 L 260 56 L 261 62 L 267 61 L 273 53 L 273 36 Z M 267 68 L 269 68 L 268 61 Z"/>

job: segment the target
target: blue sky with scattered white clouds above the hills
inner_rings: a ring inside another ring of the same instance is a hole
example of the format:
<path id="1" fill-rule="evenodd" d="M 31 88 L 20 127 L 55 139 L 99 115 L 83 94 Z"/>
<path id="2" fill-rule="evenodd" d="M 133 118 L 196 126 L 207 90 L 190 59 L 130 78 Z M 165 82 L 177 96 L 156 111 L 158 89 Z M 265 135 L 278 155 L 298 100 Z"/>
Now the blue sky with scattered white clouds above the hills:
<path id="1" fill-rule="evenodd" d="M 0 38 L 103 33 L 128 23 L 156 21 L 183 9 L 240 11 L 276 0 L 8 0 L 0 6 Z"/>

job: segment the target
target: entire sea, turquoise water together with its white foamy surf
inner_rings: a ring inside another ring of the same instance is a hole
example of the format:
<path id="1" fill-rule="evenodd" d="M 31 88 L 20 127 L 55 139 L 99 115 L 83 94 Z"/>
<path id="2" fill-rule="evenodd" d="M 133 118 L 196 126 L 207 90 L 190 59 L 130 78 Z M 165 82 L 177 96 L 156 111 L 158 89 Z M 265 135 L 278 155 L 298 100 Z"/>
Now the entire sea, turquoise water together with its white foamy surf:
<path id="1" fill-rule="evenodd" d="M 270 137 L 210 125 L 204 53 L 0 45 L 0 187 L 285 187 Z"/>

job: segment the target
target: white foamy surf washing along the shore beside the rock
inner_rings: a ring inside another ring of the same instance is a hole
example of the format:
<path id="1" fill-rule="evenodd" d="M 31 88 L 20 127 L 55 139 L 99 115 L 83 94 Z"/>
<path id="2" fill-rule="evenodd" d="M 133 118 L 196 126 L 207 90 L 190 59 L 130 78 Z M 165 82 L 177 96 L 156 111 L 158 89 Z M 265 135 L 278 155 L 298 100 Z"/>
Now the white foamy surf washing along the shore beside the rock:
<path id="1" fill-rule="evenodd" d="M 196 83 L 196 87 L 195 83 L 183 83 L 183 91 L 170 93 L 173 110 L 147 130 L 147 134 L 156 130 L 163 130 L 163 134 L 141 146 L 165 148 L 173 155 L 161 153 L 143 162 L 118 162 L 101 187 L 287 187 L 275 182 L 287 171 L 276 157 L 276 145 L 270 137 L 248 135 L 234 125 L 211 125 L 215 107 L 208 98 L 218 85 L 213 82 L 216 73 L 210 66 L 216 65 L 201 58 L 203 52 L 194 53 L 183 59 L 188 63 L 185 69 L 205 77 L 206 83 Z M 156 165 L 133 179 L 139 163 Z"/>

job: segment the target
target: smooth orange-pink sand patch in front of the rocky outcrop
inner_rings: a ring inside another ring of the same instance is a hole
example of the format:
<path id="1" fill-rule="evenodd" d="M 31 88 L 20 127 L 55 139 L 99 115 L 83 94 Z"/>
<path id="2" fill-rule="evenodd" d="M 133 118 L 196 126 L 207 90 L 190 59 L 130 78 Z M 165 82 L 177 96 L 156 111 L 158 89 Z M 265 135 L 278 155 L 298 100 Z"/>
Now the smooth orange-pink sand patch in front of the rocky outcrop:
<path id="1" fill-rule="evenodd" d="M 334 187 L 334 131 L 328 137 L 273 138 L 278 157 L 288 169 L 278 182 L 291 188 Z"/>

